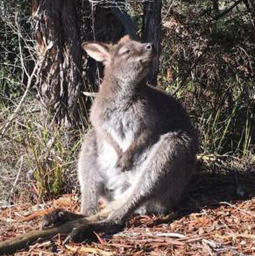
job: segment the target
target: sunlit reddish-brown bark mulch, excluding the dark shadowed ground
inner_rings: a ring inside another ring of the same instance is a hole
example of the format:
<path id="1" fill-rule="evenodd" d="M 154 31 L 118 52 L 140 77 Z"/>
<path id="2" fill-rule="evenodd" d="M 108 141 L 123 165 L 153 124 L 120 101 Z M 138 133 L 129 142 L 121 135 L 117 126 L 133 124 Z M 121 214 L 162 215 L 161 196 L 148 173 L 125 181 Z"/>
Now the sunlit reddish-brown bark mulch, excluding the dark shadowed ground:
<path id="1" fill-rule="evenodd" d="M 39 228 L 40 215 L 58 207 L 78 212 L 77 196 L 2 210 L 0 241 Z M 124 231 L 97 234 L 96 240 L 63 245 L 64 238 L 57 236 L 15 255 L 255 255 L 255 198 L 221 202 L 183 217 L 179 213 L 133 217 Z"/>

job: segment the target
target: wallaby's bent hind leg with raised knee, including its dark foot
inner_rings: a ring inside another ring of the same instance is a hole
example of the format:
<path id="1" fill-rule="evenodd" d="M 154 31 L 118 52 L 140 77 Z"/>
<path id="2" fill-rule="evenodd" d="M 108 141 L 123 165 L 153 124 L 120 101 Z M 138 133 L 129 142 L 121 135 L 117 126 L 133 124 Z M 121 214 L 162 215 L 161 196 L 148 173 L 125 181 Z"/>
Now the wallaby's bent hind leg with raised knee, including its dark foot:
<path id="1" fill-rule="evenodd" d="M 125 192 L 122 200 L 112 202 L 107 219 L 79 228 L 71 240 L 81 240 L 90 230 L 111 231 L 123 227 L 125 221 L 140 206 L 156 203 L 152 211 L 161 213 L 181 199 L 185 186 L 195 171 L 196 140 L 181 132 L 162 135 L 142 164 L 141 174 Z M 148 209 L 151 211 L 151 209 Z"/>

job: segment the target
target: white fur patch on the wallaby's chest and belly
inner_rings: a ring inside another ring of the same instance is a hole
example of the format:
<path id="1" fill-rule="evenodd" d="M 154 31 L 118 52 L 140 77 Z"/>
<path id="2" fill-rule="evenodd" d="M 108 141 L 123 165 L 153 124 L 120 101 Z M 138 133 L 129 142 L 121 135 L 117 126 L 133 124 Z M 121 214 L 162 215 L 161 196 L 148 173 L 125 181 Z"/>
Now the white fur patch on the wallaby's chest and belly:
<path id="1" fill-rule="evenodd" d="M 132 112 L 132 109 L 122 110 L 106 107 L 99 116 L 101 123 L 99 129 L 102 133 L 107 134 L 106 138 L 110 136 L 123 152 L 131 146 L 137 134 L 137 121 Z M 105 178 L 106 187 L 115 195 L 119 195 L 126 186 L 129 186 L 130 181 L 126 177 L 127 175 L 117 167 L 119 156 L 114 145 L 106 138 L 102 138 L 99 142 L 100 172 Z"/>

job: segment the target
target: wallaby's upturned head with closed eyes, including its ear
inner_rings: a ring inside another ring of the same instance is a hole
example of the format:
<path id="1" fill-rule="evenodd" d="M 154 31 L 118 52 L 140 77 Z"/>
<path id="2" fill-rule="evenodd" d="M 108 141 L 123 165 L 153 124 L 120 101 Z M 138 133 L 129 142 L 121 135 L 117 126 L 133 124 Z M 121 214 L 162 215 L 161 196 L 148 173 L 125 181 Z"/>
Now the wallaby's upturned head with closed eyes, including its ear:
<path id="1" fill-rule="evenodd" d="M 140 43 L 129 36 L 124 36 L 115 45 L 86 42 L 82 47 L 90 57 L 103 62 L 105 75 L 125 84 L 137 84 L 145 78 L 155 57 L 152 43 Z"/>

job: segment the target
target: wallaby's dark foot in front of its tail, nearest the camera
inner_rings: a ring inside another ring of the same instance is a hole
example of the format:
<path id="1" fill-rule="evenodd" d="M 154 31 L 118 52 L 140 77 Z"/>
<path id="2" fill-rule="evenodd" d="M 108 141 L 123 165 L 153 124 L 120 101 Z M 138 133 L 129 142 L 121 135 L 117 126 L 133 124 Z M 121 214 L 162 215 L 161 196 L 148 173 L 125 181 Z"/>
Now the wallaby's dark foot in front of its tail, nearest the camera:
<path id="1" fill-rule="evenodd" d="M 124 229 L 124 224 L 111 223 L 109 221 L 100 221 L 92 224 L 74 228 L 69 235 L 69 242 L 83 242 L 86 239 L 95 240 L 95 233 L 103 232 L 104 234 L 115 234 Z"/>

